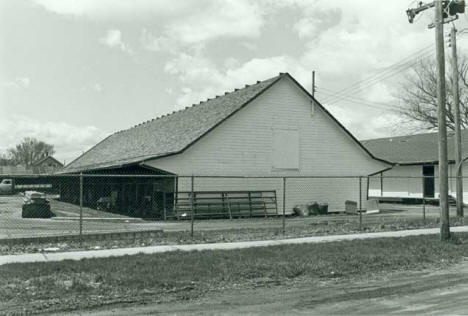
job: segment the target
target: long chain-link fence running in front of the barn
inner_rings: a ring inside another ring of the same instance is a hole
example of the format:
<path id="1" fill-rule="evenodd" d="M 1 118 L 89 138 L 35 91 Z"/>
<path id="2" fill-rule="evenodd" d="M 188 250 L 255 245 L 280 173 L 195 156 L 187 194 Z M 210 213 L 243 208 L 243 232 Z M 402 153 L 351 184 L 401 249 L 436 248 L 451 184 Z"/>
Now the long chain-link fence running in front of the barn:
<path id="1" fill-rule="evenodd" d="M 0 179 L 0 240 L 81 241 L 136 233 L 156 233 L 161 239 L 174 233 L 201 242 L 212 236 L 302 237 L 437 227 L 440 215 L 434 177 L 73 174 Z M 450 194 L 452 224 L 460 224 L 454 179 Z"/>

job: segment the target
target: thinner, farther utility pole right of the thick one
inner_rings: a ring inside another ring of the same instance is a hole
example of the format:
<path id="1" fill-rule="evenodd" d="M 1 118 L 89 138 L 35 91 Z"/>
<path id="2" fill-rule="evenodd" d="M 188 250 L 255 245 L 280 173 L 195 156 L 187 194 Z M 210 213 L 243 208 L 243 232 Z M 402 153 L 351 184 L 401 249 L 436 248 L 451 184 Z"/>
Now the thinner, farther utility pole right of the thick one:
<path id="1" fill-rule="evenodd" d="M 462 178 L 462 143 L 460 128 L 460 90 L 458 87 L 458 57 L 457 57 L 457 29 L 452 26 L 450 31 L 450 46 L 452 46 L 452 81 L 453 81 L 453 110 L 455 116 L 455 172 L 457 189 L 457 216 L 463 217 L 463 178 Z"/>

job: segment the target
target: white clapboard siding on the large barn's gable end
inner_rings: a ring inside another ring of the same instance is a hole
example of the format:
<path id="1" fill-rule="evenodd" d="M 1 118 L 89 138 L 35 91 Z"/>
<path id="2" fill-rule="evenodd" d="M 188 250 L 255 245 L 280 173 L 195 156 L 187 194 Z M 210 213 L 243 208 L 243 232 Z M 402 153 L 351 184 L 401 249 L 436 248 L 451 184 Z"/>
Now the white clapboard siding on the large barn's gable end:
<path id="1" fill-rule="evenodd" d="M 299 168 L 273 168 L 275 131 L 299 135 Z M 147 165 L 178 175 L 242 176 L 366 176 L 389 165 L 370 157 L 287 77 L 251 104 L 228 118 L 183 153 L 154 159 Z M 347 199 L 359 200 L 358 179 L 288 180 L 287 212 L 310 201 L 344 209 Z M 196 190 L 277 190 L 282 206 L 281 179 L 197 179 Z M 363 196 L 367 194 L 363 180 Z M 179 179 L 180 191 L 190 190 L 189 179 Z"/>

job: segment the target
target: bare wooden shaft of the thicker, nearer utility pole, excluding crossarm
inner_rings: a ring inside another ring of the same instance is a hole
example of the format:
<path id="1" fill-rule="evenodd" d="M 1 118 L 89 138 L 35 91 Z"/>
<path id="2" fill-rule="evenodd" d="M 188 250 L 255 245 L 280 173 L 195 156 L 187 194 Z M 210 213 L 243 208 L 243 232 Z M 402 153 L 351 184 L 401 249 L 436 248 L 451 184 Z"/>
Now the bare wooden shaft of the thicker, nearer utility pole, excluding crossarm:
<path id="1" fill-rule="evenodd" d="M 442 0 L 435 1 L 435 38 L 437 60 L 437 123 L 439 127 L 439 205 L 440 239 L 450 238 L 448 204 L 447 112 L 445 100 L 444 18 Z"/>

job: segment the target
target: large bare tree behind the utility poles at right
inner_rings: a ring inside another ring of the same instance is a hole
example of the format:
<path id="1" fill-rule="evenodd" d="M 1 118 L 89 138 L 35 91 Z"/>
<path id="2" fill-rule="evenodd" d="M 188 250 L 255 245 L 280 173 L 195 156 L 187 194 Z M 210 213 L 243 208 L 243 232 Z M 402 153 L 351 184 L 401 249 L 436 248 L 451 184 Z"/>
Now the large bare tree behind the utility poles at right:
<path id="1" fill-rule="evenodd" d="M 449 70 L 449 69 L 448 69 Z M 466 56 L 459 59 L 460 82 L 460 116 L 462 128 L 468 127 L 468 60 Z M 447 128 L 454 129 L 454 113 L 452 111 L 453 79 L 447 71 Z M 395 97 L 399 101 L 397 112 L 406 123 L 416 123 L 419 129 L 433 130 L 437 128 L 437 73 L 433 59 L 421 59 L 410 68 L 400 83 Z"/>

